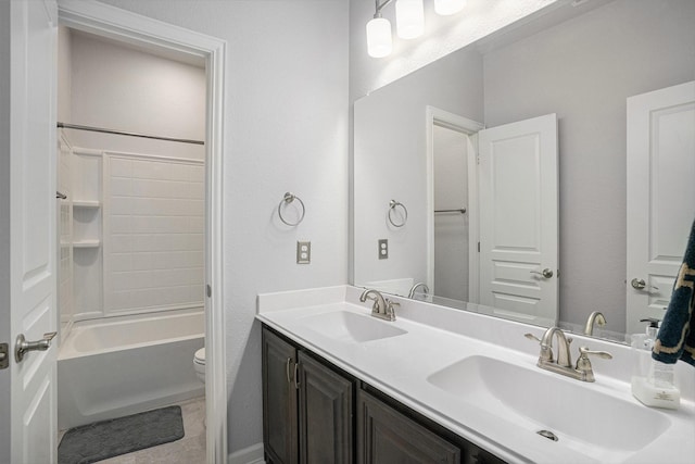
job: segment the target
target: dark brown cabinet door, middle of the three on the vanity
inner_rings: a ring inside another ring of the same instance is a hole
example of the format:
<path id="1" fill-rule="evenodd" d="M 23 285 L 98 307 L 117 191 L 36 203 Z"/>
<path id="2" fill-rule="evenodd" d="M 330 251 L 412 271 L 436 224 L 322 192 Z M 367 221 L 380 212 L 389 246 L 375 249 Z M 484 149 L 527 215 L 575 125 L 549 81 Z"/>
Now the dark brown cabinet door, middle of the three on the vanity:
<path id="1" fill-rule="evenodd" d="M 352 462 L 352 381 L 300 352 L 300 462 Z"/>

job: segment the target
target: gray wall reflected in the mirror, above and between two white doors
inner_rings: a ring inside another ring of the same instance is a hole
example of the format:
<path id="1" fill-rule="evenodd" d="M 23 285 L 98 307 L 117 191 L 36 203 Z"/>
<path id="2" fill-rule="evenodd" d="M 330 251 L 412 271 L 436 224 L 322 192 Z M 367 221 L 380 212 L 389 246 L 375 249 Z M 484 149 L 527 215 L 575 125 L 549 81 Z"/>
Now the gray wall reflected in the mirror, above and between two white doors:
<path id="1" fill-rule="evenodd" d="M 692 0 L 617 0 L 484 57 L 486 126 L 559 118 L 561 321 L 624 330 L 626 99 L 695 78 L 694 25 Z"/>

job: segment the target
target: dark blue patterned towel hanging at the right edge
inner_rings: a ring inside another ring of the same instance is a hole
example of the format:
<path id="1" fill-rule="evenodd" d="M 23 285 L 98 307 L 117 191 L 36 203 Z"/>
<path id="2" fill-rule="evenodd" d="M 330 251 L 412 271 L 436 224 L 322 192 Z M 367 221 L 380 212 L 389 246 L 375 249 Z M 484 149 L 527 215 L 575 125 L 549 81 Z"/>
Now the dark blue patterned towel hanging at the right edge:
<path id="1" fill-rule="evenodd" d="M 652 358 L 673 364 L 679 359 L 695 366 L 695 222 L 683 264 L 673 284 L 669 308 L 654 343 Z"/>

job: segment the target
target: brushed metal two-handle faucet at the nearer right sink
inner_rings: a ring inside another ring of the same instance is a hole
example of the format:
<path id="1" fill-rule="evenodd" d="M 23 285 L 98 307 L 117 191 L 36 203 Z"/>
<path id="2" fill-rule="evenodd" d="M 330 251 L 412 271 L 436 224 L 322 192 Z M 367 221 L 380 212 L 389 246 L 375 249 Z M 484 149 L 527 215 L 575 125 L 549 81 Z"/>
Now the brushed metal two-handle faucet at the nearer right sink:
<path id="1" fill-rule="evenodd" d="M 590 354 L 605 360 L 612 359 L 612 355 L 606 351 L 591 351 L 586 347 L 581 347 L 577 364 L 572 366 L 572 358 L 569 351 L 572 339 L 567 338 L 565 333 L 557 327 L 551 327 L 545 330 L 545 334 L 540 339 L 532 334 L 526 334 L 525 337 L 541 343 L 541 354 L 536 364 L 539 367 L 577 380 L 595 381 L 594 372 L 589 360 Z M 558 344 L 557 360 L 553 355 L 553 339 L 556 339 Z"/>

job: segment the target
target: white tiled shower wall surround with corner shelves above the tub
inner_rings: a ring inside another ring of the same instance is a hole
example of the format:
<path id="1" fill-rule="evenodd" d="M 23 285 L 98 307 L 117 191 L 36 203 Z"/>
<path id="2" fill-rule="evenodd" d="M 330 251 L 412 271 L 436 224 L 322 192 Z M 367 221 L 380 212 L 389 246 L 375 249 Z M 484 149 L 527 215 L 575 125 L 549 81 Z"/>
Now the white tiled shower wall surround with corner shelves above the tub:
<path id="1" fill-rule="evenodd" d="M 61 206 L 63 325 L 202 308 L 203 162 L 78 147 L 70 161 L 73 181 Z"/>

